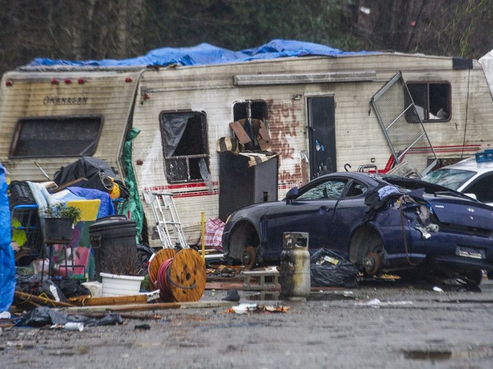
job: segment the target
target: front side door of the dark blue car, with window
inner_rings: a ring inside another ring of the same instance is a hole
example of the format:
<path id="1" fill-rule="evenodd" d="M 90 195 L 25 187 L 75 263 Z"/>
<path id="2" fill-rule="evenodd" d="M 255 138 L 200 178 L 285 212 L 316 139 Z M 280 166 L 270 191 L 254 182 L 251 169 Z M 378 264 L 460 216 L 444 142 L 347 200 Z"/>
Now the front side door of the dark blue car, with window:
<path id="1" fill-rule="evenodd" d="M 272 208 L 262 221 L 267 254 L 282 250 L 284 232 L 307 232 L 310 249 L 328 247 L 333 236 L 333 209 L 342 199 L 347 182 L 345 178 L 314 180 L 296 200 Z"/>

